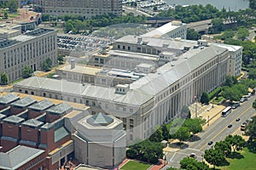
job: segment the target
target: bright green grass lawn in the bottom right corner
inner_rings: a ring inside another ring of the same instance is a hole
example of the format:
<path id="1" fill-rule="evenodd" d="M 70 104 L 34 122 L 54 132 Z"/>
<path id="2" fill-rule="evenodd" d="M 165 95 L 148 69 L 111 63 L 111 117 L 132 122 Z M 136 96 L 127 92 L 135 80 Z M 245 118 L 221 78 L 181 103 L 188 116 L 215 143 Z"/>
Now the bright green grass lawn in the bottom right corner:
<path id="1" fill-rule="evenodd" d="M 227 159 L 230 162 L 228 167 L 218 167 L 221 170 L 256 170 L 256 152 L 250 152 L 247 148 L 244 148 L 241 152 L 241 159 Z M 244 156 L 242 158 L 242 156 Z"/>

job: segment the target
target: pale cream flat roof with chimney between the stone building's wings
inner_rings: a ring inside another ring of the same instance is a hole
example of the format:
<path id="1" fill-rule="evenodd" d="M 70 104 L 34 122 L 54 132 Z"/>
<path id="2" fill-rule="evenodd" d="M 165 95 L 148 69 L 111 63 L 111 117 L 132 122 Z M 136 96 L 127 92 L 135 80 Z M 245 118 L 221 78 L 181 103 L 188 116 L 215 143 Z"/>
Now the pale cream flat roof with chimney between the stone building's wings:
<path id="1" fill-rule="evenodd" d="M 99 67 L 92 67 L 88 65 L 75 65 L 73 69 L 71 69 L 71 65 L 64 65 L 60 69 L 57 69 L 59 71 L 67 71 L 67 72 L 76 72 L 80 74 L 86 74 L 86 75 L 96 75 L 96 73 L 102 71 Z"/>

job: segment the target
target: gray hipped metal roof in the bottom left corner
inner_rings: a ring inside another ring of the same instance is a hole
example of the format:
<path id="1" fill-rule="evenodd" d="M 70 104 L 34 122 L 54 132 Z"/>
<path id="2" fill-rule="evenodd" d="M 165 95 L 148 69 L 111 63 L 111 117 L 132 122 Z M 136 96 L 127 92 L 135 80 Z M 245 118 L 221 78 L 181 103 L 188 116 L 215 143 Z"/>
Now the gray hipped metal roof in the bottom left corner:
<path id="1" fill-rule="evenodd" d="M 0 169 L 18 169 L 43 153 L 44 150 L 18 145 L 6 153 L 0 152 Z"/>

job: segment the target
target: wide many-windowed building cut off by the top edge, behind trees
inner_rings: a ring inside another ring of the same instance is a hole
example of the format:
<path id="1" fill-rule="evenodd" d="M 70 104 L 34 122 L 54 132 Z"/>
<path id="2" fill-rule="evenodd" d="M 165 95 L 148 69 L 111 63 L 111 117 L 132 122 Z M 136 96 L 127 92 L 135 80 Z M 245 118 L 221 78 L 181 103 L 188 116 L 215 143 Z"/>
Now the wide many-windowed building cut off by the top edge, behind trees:
<path id="1" fill-rule="evenodd" d="M 122 14 L 122 0 L 38 0 L 43 13 L 52 15 L 81 15 L 84 19 L 102 14 Z"/>

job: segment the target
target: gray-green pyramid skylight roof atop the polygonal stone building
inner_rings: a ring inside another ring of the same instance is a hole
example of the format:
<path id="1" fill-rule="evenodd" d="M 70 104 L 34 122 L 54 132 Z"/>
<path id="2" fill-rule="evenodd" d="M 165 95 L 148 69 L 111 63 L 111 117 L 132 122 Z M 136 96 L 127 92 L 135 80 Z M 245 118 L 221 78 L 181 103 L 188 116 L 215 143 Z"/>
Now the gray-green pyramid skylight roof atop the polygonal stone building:
<path id="1" fill-rule="evenodd" d="M 87 122 L 91 126 L 108 126 L 110 123 L 113 122 L 113 118 L 103 113 L 97 113 L 94 116 L 90 116 L 87 119 Z"/>

